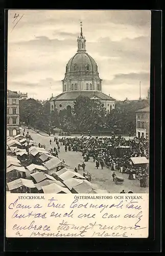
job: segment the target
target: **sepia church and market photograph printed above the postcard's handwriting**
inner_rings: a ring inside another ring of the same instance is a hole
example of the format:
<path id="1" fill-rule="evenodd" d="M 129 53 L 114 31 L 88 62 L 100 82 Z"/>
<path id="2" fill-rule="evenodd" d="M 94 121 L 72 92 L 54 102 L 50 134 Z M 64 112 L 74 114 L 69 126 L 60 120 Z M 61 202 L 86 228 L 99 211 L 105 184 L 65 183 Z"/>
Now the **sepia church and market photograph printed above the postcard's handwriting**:
<path id="1" fill-rule="evenodd" d="M 7 194 L 148 194 L 151 12 L 9 10 L 7 41 Z"/>

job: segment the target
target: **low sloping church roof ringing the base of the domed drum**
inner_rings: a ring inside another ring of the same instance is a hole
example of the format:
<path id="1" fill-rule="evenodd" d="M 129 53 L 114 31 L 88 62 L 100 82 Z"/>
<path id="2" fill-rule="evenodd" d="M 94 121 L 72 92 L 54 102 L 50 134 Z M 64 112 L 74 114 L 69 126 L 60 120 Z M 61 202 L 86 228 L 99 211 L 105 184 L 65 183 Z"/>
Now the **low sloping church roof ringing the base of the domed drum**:
<path id="1" fill-rule="evenodd" d="M 52 100 L 76 100 L 80 95 L 87 96 L 89 98 L 100 98 L 101 100 L 115 100 L 112 97 L 99 92 L 99 91 L 68 91 L 57 95 Z"/>

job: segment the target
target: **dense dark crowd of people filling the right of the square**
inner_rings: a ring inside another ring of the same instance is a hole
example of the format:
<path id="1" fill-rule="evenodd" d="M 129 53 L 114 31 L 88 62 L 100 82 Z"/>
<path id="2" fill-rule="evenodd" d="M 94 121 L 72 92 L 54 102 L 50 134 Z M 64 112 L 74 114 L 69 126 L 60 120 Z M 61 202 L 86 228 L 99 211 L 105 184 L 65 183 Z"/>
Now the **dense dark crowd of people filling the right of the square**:
<path id="1" fill-rule="evenodd" d="M 149 141 L 145 139 L 129 139 L 119 136 L 115 138 L 105 137 L 58 137 L 54 138 L 56 145 L 51 149 L 55 156 L 58 157 L 60 146 L 63 145 L 65 152 L 75 151 L 82 152 L 83 164 L 92 158 L 93 163 L 96 164 L 97 169 L 103 169 L 104 166 L 115 171 L 118 169 L 121 174 L 128 174 L 128 179 L 138 179 L 140 186 L 148 186 L 148 168 L 132 167 L 129 159 L 131 157 L 143 157 L 149 159 Z M 51 144 L 51 141 L 50 141 Z M 83 167 L 83 169 L 85 166 Z"/>

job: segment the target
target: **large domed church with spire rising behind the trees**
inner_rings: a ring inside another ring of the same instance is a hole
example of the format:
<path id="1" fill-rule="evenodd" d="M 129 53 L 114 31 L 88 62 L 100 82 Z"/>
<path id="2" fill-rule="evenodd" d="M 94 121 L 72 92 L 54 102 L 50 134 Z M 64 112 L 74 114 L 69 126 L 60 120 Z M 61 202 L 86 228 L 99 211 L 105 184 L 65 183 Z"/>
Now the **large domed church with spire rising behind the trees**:
<path id="1" fill-rule="evenodd" d="M 65 77 L 62 80 L 63 92 L 50 99 L 51 111 L 67 109 L 72 111 L 74 101 L 79 95 L 101 100 L 107 114 L 114 109 L 115 99 L 102 93 L 102 79 L 99 77 L 96 61 L 86 52 L 86 39 L 82 33 L 77 39 L 77 53 L 66 65 Z"/>

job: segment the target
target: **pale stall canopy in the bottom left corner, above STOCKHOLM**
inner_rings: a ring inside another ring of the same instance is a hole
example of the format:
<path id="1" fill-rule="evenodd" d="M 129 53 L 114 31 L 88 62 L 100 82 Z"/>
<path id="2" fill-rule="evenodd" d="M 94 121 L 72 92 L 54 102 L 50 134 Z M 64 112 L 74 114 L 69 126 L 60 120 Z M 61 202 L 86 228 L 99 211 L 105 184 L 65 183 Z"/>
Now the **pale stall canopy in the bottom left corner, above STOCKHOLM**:
<path id="1" fill-rule="evenodd" d="M 21 186 L 35 188 L 35 185 L 32 180 L 27 180 L 27 179 L 22 179 L 22 178 L 8 182 L 7 185 L 8 185 L 9 190 L 13 190 L 13 189 L 21 187 Z"/>

